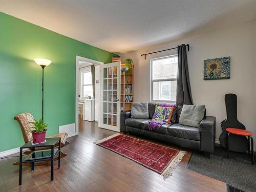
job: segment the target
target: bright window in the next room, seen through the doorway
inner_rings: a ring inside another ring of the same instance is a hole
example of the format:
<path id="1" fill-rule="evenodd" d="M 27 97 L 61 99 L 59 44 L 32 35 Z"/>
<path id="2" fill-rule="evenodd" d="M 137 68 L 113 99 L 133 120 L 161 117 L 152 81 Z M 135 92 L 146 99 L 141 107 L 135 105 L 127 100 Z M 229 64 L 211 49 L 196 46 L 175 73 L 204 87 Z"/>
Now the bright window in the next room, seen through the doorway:
<path id="1" fill-rule="evenodd" d="M 91 96 L 93 98 L 93 85 L 91 70 L 82 72 L 82 97 Z"/>

